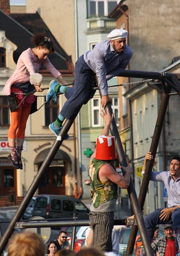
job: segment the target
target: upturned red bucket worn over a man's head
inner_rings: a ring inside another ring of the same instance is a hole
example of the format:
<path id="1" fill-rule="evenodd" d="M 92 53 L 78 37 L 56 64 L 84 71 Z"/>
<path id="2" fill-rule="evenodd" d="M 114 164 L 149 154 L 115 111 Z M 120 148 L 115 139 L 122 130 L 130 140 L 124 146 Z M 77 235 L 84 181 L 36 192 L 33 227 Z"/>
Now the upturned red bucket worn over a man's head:
<path id="1" fill-rule="evenodd" d="M 114 136 L 98 136 L 96 139 L 95 159 L 113 160 L 116 159 L 115 137 Z"/>

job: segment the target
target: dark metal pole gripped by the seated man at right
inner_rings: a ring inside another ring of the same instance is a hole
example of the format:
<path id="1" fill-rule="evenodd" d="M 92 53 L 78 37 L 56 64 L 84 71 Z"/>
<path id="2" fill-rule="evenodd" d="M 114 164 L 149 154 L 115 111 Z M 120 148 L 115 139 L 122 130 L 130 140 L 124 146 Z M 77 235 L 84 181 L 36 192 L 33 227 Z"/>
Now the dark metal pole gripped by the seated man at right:
<path id="1" fill-rule="evenodd" d="M 156 126 L 155 126 L 154 134 L 152 137 L 150 152 L 152 153 L 154 158 L 156 156 L 156 151 L 158 148 L 160 134 L 161 134 L 161 131 L 163 128 L 163 122 L 164 122 L 168 102 L 169 102 L 169 91 L 167 91 L 166 93 L 163 93 L 163 95 L 162 95 L 162 100 L 161 100 L 161 104 L 160 104 L 160 108 L 159 108 L 159 112 L 158 112 Z M 141 206 L 141 210 L 143 210 L 145 197 L 146 197 L 147 189 L 148 189 L 149 182 L 150 182 L 150 176 L 151 176 L 151 172 L 152 172 L 152 168 L 153 168 L 153 164 L 154 164 L 154 158 L 152 161 L 147 160 L 146 171 L 145 171 L 145 174 L 143 177 L 141 189 L 139 192 L 139 198 L 138 198 L 139 204 Z M 126 250 L 127 255 L 130 255 L 133 252 L 136 236 L 137 236 L 137 226 L 132 226 L 130 236 L 129 236 L 128 245 L 127 245 L 127 250 Z"/>

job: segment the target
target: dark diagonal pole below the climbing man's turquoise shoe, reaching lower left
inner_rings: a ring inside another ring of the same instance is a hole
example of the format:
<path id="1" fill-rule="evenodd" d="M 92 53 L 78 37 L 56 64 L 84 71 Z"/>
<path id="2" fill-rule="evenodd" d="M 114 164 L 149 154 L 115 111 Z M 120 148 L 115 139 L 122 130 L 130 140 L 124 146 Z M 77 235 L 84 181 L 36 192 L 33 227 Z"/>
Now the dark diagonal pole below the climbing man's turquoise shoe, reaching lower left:
<path id="1" fill-rule="evenodd" d="M 74 117 L 74 119 L 75 118 L 76 117 Z M 43 164 L 41 165 L 39 171 L 37 172 L 37 175 L 35 176 L 32 184 L 30 185 L 30 187 L 29 187 L 26 195 L 24 196 L 20 206 L 18 207 L 18 209 L 17 209 L 13 219 L 11 220 L 6 232 L 2 236 L 2 239 L 0 241 L 0 255 L 4 251 L 11 234 L 13 234 L 16 222 L 20 221 L 24 211 L 26 210 L 26 207 L 30 203 L 30 200 L 32 199 L 32 197 L 35 194 L 41 180 L 43 179 L 43 176 L 46 174 L 46 171 L 47 171 L 48 167 L 50 166 L 50 163 L 52 162 L 56 152 L 59 150 L 61 144 L 63 143 L 63 139 L 64 139 L 65 135 L 67 134 L 67 132 L 69 131 L 70 127 L 72 126 L 72 124 L 74 122 L 74 119 L 72 119 L 72 120 L 67 119 L 65 121 L 65 124 L 63 125 L 63 128 L 61 129 L 61 132 L 59 133 L 59 136 L 56 138 L 52 147 L 50 148 L 48 156 L 43 161 Z"/>

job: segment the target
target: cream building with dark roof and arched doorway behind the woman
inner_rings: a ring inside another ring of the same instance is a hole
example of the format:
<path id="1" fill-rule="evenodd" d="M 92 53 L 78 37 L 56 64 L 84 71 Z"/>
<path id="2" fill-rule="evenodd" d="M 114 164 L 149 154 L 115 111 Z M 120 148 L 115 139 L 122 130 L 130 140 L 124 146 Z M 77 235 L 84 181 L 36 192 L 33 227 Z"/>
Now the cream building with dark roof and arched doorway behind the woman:
<path id="1" fill-rule="evenodd" d="M 47 91 L 36 93 L 40 96 L 37 98 L 37 108 L 43 106 L 28 118 L 22 152 L 23 170 L 14 169 L 7 159 L 10 153 L 7 134 L 11 122 L 8 96 L 1 95 L 1 91 L 13 74 L 19 55 L 31 46 L 30 38 L 33 33 L 2 9 L 0 19 L 0 196 L 9 195 L 13 191 L 19 197 L 25 195 L 52 147 L 56 137 L 48 125 L 56 119 L 65 97 L 61 95 L 56 103 L 52 101 L 44 104 Z M 33 26 L 35 22 L 36 20 L 32 21 Z M 41 19 L 38 20 L 38 24 L 40 23 Z M 44 29 L 47 29 L 45 25 Z M 52 35 L 50 37 L 52 38 Z M 50 61 L 63 74 L 67 83 L 72 83 L 74 66 L 71 58 L 57 42 L 54 43 L 57 45 L 57 51 L 52 54 L 52 58 L 50 56 Z M 43 75 L 41 87 L 47 88 L 54 77 L 43 68 L 39 72 Z M 79 176 L 76 165 L 76 123 L 69 130 L 69 136 L 70 139 L 63 142 L 50 167 L 47 168 L 43 180 L 39 181 L 37 193 L 74 195 L 76 192 L 76 176 Z"/>

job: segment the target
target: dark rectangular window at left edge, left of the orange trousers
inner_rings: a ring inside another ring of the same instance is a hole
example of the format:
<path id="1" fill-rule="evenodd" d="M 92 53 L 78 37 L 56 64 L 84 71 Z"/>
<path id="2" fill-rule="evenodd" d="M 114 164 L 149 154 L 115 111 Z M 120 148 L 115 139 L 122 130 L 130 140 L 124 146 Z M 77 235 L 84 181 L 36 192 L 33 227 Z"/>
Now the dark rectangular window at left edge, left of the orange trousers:
<path id="1" fill-rule="evenodd" d="M 0 96 L 0 126 L 10 125 L 8 96 Z"/>

